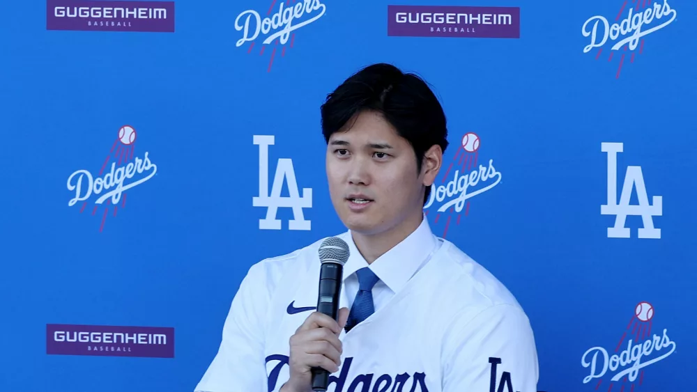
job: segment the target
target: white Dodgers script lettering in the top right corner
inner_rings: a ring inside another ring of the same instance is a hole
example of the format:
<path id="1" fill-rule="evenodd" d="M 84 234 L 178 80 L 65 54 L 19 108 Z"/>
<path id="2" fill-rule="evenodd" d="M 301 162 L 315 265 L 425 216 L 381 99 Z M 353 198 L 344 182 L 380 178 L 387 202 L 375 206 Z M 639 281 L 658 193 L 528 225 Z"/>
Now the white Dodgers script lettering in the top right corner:
<path id="1" fill-rule="evenodd" d="M 668 5 L 668 0 L 664 0 L 662 5 L 654 3 L 654 8 L 649 8 L 643 13 L 632 15 L 633 13 L 634 8 L 629 8 L 627 17 L 623 19 L 622 22 L 613 23 L 612 25 L 610 25 L 606 17 L 601 15 L 595 15 L 586 20 L 581 28 L 581 33 L 584 37 L 590 36 L 590 44 L 583 48 L 583 53 L 590 52 L 594 47 L 602 47 L 607 42 L 608 38 L 615 41 L 618 40 L 620 36 L 625 38 L 616 42 L 612 50 L 620 49 L 620 47 L 627 42 L 629 42 L 629 49 L 634 50 L 639 43 L 639 38 L 663 29 L 665 26 L 668 26 L 668 24 L 671 24 L 677 16 L 677 11 Z M 654 17 L 656 17 L 656 19 L 662 19 L 666 15 L 669 16 L 670 19 L 665 19 L 661 24 L 642 31 L 642 27 L 649 24 Z M 588 29 L 589 26 L 592 26 L 592 29 Z M 599 31 L 599 29 L 602 30 Z"/>

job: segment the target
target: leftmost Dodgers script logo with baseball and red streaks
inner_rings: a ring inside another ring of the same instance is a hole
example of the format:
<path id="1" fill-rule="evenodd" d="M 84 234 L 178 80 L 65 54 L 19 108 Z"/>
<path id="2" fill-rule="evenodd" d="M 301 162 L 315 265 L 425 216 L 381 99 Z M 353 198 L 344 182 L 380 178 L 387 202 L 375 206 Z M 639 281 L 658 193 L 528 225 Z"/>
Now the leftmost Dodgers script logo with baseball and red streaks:
<path id="1" fill-rule="evenodd" d="M 135 154 L 135 141 L 135 129 L 124 125 L 118 130 L 118 137 L 96 175 L 81 169 L 68 177 L 68 191 L 75 196 L 68 201 L 69 207 L 83 201 L 80 207 L 82 214 L 90 198 L 94 200 L 92 215 L 97 213 L 99 207 L 104 207 L 100 233 L 104 229 L 109 207 L 114 207 L 113 215 L 116 217 L 119 204 L 121 209 L 126 205 L 125 191 L 150 180 L 158 171 L 158 166 L 151 162 L 147 151 L 142 158 Z"/>

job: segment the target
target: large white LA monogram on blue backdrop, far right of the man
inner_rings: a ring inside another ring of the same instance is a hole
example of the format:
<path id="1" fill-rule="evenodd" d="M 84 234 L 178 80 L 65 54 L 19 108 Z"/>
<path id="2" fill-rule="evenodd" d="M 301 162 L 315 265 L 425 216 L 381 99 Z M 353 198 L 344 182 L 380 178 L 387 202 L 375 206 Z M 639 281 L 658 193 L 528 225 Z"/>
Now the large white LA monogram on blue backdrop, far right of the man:
<path id="1" fill-rule="evenodd" d="M 653 217 L 663 214 L 663 197 L 653 196 L 652 204 L 646 194 L 641 166 L 627 166 L 620 203 L 617 203 L 617 153 L 622 152 L 624 143 L 602 143 L 602 152 L 608 154 L 608 201 L 600 206 L 600 214 L 615 215 L 615 226 L 608 227 L 608 238 L 629 238 L 629 228 L 625 227 L 628 215 L 641 216 L 643 228 L 639 228 L 639 238 L 661 238 L 661 229 L 654 228 Z M 636 187 L 638 204 L 630 205 L 631 191 Z"/>

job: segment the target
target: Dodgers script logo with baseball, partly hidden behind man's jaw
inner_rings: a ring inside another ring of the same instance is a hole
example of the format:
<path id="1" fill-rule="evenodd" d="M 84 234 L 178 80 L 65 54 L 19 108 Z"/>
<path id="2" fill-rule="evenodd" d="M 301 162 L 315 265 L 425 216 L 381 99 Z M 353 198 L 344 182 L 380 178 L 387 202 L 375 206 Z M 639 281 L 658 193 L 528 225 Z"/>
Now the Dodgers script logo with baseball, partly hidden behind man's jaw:
<path id="1" fill-rule="evenodd" d="M 431 185 L 431 194 L 424 210 L 428 214 L 431 208 L 436 209 L 434 224 L 441 220 L 441 214 L 447 216 L 444 238 L 450 219 L 457 214 L 459 225 L 462 214 L 469 213 L 470 198 L 489 191 L 501 182 L 501 173 L 493 166 L 493 159 L 479 162 L 479 149 L 480 137 L 477 134 L 468 132 L 462 136 L 460 146 L 443 177 L 440 180 L 436 177 Z"/>

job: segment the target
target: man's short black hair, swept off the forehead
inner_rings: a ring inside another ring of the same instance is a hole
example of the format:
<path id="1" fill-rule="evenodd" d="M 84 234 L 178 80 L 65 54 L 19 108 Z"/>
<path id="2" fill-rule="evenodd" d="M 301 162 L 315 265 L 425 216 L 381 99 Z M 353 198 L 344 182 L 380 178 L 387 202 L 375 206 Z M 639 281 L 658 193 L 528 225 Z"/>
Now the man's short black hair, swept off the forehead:
<path id="1" fill-rule="evenodd" d="M 372 110 L 383 115 L 414 150 L 417 173 L 421 171 L 424 154 L 431 146 L 447 148 L 447 126 L 441 102 L 424 79 L 404 73 L 395 65 L 368 65 L 348 77 L 327 95 L 321 106 L 322 134 L 327 143 L 335 132 L 361 111 Z M 426 188 L 424 205 L 431 187 Z"/>

